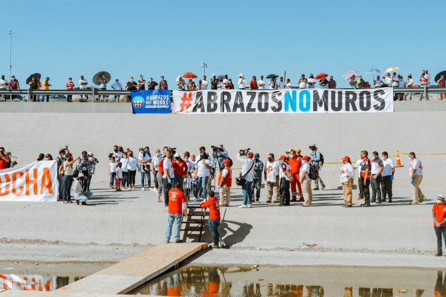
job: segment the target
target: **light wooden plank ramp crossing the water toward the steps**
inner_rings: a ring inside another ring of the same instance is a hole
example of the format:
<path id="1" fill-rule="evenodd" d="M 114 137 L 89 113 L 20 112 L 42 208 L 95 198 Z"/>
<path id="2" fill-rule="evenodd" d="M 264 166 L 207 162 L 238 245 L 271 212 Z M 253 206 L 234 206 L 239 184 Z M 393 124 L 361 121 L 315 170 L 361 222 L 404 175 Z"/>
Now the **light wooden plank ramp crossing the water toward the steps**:
<path id="1" fill-rule="evenodd" d="M 6 290 L 0 292 L 0 297 L 116 297 L 138 288 L 207 247 L 207 243 L 158 245 L 53 292 Z"/>

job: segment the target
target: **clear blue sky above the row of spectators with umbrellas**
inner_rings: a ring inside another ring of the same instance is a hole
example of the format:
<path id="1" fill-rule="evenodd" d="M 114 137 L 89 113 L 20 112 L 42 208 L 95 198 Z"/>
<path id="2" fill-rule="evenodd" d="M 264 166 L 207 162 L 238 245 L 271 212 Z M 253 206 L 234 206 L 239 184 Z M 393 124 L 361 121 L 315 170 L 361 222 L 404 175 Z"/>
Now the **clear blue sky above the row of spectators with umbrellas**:
<path id="1" fill-rule="evenodd" d="M 433 83 L 446 69 L 445 11 L 444 0 L 24 0 L 2 8 L 0 74 L 8 75 L 12 30 L 22 88 L 34 72 L 64 89 L 68 77 L 91 83 L 101 70 L 123 83 L 165 75 L 172 86 L 186 71 L 201 77 L 203 61 L 208 77 L 233 81 L 286 70 L 294 86 L 302 73 L 327 72 L 346 87 L 348 69 L 398 66 L 404 79 L 429 69 Z"/>

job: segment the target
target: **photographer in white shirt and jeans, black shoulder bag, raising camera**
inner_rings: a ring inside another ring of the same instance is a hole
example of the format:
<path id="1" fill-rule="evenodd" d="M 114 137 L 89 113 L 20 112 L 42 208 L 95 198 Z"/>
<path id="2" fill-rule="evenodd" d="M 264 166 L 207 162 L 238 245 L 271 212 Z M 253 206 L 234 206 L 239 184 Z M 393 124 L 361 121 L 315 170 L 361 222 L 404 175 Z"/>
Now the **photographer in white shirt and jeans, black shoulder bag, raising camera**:
<path id="1" fill-rule="evenodd" d="M 241 156 L 246 155 L 247 158 Z M 237 184 L 242 187 L 243 192 L 243 204 L 238 206 L 241 208 L 249 208 L 252 203 L 252 182 L 254 177 L 254 153 L 249 152 L 247 149 L 239 149 L 237 153 L 237 160 L 239 160 L 242 166 L 242 172 L 240 177 L 237 178 Z"/>

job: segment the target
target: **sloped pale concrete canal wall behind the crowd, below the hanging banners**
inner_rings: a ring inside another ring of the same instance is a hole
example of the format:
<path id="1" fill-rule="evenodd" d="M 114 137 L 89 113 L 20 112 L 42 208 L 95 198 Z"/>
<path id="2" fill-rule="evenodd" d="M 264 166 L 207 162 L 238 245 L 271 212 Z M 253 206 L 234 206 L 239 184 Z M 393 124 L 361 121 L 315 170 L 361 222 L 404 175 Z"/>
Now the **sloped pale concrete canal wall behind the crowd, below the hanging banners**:
<path id="1" fill-rule="evenodd" d="M 155 151 L 167 145 L 192 153 L 200 146 L 210 149 L 224 144 L 234 159 L 238 148 L 249 147 L 265 160 L 269 152 L 279 156 L 287 148 L 300 147 L 309 154 L 308 145 L 316 143 L 326 162 L 338 162 L 344 155 L 355 160 L 362 149 L 370 154 L 374 150 L 394 154 L 397 149 L 437 153 L 446 145 L 446 104 L 442 101 L 395 102 L 392 113 L 293 115 L 134 115 L 129 103 L 8 102 L 0 107 L 5 131 L 0 146 L 17 156 L 20 164 L 34 161 L 40 152 L 57 156 L 60 147 L 69 145 L 74 155 L 82 150 L 95 152 L 100 160 L 95 180 L 104 182 L 108 180 L 107 154 L 115 144 L 135 152 L 139 147 Z M 442 191 L 445 156 L 419 157 L 424 185 Z M 408 157 L 401 159 L 406 167 L 397 169 L 396 188 L 408 183 Z M 235 161 L 234 167 L 238 166 Z M 327 164 L 321 171 L 328 187 L 339 186 L 338 170 L 339 165 Z"/>

